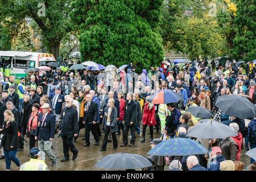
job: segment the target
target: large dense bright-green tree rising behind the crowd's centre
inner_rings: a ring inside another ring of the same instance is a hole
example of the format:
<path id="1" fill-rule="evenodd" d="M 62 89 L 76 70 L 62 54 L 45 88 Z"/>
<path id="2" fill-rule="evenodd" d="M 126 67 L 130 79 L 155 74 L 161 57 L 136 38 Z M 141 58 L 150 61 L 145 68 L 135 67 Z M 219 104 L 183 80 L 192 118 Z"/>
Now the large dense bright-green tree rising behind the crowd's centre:
<path id="1" fill-rule="evenodd" d="M 163 57 L 159 22 L 162 0 L 76 0 L 70 16 L 81 28 L 80 52 L 117 67 L 132 62 L 136 71 L 158 65 Z"/>

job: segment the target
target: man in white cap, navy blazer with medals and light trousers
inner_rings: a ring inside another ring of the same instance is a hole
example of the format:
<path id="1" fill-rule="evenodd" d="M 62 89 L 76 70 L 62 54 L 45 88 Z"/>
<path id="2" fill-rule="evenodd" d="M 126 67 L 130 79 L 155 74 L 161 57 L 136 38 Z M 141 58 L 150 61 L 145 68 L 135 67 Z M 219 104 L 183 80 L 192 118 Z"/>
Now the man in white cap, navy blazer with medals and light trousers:
<path id="1" fill-rule="evenodd" d="M 55 134 L 55 117 L 49 113 L 49 110 L 51 110 L 49 104 L 43 104 L 41 108 L 43 114 L 38 117 L 35 140 L 38 139 L 38 148 L 42 151 L 40 158 L 45 162 L 45 155 L 47 154 L 51 159 L 51 165 L 54 166 L 56 164 L 56 156 L 51 151 L 51 144 Z"/>

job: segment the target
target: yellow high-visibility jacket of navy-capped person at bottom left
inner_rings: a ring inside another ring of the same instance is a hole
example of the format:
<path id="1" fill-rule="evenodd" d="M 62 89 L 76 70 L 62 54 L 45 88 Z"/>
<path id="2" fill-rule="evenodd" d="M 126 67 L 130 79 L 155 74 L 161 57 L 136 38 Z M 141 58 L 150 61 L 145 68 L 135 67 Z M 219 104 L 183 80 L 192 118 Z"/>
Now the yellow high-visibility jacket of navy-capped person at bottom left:
<path id="1" fill-rule="evenodd" d="M 46 163 L 39 159 L 30 159 L 29 162 L 24 163 L 19 171 L 49 171 Z"/>

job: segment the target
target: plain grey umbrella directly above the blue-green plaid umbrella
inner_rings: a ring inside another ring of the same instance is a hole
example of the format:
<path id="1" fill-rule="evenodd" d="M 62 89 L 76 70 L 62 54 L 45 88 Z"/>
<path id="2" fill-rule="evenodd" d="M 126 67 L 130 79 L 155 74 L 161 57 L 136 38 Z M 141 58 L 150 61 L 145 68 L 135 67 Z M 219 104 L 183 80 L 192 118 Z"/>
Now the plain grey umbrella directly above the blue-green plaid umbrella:
<path id="1" fill-rule="evenodd" d="M 188 130 L 187 136 L 199 139 L 212 139 L 235 137 L 237 134 L 237 131 L 221 122 L 202 119 L 200 123 Z"/>

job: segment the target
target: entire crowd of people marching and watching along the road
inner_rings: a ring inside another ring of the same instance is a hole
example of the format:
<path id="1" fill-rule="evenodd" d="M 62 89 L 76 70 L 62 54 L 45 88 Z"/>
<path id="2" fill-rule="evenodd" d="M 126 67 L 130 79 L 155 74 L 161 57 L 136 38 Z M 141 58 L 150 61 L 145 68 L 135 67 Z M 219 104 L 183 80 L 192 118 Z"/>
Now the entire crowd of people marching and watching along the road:
<path id="1" fill-rule="evenodd" d="M 71 67 L 67 60 L 62 65 Z M 28 155 L 32 154 L 31 158 L 36 160 L 40 151 L 40 160 L 45 165 L 47 154 L 52 166 L 56 164 L 56 156 L 51 150 L 56 133 L 58 137 L 61 136 L 63 143 L 64 158 L 61 162 L 70 159 L 69 149 L 73 153 L 72 160 L 77 158 L 79 151 L 75 142 L 79 139 L 79 133 L 82 134 L 82 129 L 85 129 L 82 137 L 85 140 L 84 147 L 91 144 L 90 131 L 96 146 L 103 136 L 100 151 L 107 150 L 109 141 L 112 141 L 113 150 L 116 150 L 119 147 L 116 135 L 120 134 L 123 135 L 120 147 L 135 146 L 136 133 L 141 137 L 139 142 L 152 144 L 173 137 L 189 138 L 186 136 L 187 131 L 201 119 L 186 111 L 191 106 L 210 110 L 216 121 L 233 127 L 238 135 L 214 139 L 212 148 L 209 139 L 196 139 L 211 150 L 210 159 L 204 155 L 180 156 L 180 169 L 242 169 L 243 164 L 239 161 L 241 149 L 256 147 L 256 116 L 235 118 L 225 115 L 214 106 L 218 97 L 230 94 L 247 95 L 256 104 L 256 67 L 253 62 L 246 64 L 245 73 L 241 64 L 229 60 L 224 65 L 216 64 L 216 61 L 208 64 L 205 60 L 185 63 L 182 67 L 175 62 L 172 67 L 172 61 L 166 60 L 160 67 L 151 67 L 148 71 L 143 69 L 141 74 L 136 73 L 132 63 L 119 72 L 116 67 L 106 71 L 63 71 L 50 68 L 50 71 L 40 73 L 29 72 L 17 84 L 13 75 L 1 81 L 0 159 L 5 159 L 7 170 L 10 170 L 11 161 L 22 167 L 16 154 L 23 150 L 26 137 L 29 138 Z M 164 89 L 180 94 L 182 100 L 169 104 L 151 104 L 149 97 Z M 147 126 L 149 138 L 146 137 Z M 154 130 L 157 136 L 154 136 Z M 154 138 L 160 140 L 156 142 Z M 38 148 L 35 148 L 36 140 Z M 152 158 L 154 166 L 157 166 L 159 158 Z M 160 166 L 176 168 L 173 167 L 179 164 L 176 159 L 177 156 L 169 156 Z M 255 169 L 253 159 L 251 165 Z"/>

